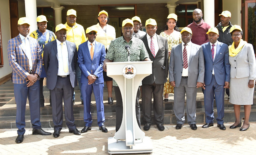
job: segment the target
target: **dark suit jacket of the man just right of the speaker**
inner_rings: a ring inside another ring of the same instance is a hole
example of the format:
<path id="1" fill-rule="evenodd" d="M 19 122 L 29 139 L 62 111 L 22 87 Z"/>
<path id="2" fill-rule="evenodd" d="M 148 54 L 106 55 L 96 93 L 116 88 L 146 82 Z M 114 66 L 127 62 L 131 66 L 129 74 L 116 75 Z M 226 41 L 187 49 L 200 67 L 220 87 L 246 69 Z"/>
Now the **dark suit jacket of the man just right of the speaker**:
<path id="1" fill-rule="evenodd" d="M 148 47 L 147 35 L 141 36 L 140 39 L 144 42 L 147 49 L 147 53 L 153 61 L 152 63 L 152 74 L 148 75 L 142 80 L 142 84 L 164 84 L 167 82 L 168 76 L 168 42 L 167 39 L 155 34 L 157 37 L 157 42 L 159 50 L 154 57 Z"/>

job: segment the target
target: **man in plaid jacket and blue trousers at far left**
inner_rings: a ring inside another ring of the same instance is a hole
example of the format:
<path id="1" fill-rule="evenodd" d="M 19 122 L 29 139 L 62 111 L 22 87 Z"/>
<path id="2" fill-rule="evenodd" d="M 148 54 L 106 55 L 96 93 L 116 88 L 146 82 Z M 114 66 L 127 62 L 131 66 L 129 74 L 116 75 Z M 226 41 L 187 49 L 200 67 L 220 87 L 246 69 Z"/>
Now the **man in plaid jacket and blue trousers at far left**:
<path id="1" fill-rule="evenodd" d="M 22 143 L 25 133 L 25 109 L 27 97 L 33 135 L 51 135 L 41 128 L 39 80 L 42 71 L 42 57 L 38 41 L 28 36 L 30 23 L 26 17 L 19 18 L 19 35 L 8 41 L 8 59 L 12 70 L 14 97 L 16 102 L 16 143 Z"/>

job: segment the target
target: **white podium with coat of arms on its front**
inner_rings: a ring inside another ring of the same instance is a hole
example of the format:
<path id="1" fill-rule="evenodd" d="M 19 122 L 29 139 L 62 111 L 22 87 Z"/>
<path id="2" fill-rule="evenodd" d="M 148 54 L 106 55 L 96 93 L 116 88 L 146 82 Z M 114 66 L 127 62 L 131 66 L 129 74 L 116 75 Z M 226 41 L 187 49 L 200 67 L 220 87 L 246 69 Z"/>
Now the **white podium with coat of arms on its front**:
<path id="1" fill-rule="evenodd" d="M 150 138 L 139 128 L 135 101 L 141 81 L 152 74 L 152 61 L 106 63 L 107 75 L 119 86 L 123 100 L 123 119 L 114 137 L 108 138 L 108 153 L 153 152 Z M 122 139 L 122 140 L 121 140 Z"/>

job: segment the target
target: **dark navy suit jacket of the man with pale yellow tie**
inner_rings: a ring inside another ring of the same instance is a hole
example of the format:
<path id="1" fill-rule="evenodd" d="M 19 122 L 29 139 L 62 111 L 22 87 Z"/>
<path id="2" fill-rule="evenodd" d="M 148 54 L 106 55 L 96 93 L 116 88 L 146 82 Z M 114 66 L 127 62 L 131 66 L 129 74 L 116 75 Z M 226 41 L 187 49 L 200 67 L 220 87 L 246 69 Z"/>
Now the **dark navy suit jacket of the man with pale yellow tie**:
<path id="1" fill-rule="evenodd" d="M 75 65 L 77 63 L 77 50 L 74 42 L 66 40 L 69 56 L 69 79 L 72 87 L 77 86 Z M 62 64 L 61 64 L 62 65 Z M 58 50 L 57 41 L 51 41 L 44 46 L 44 68 L 46 71 L 46 87 L 53 90 L 58 76 Z"/>

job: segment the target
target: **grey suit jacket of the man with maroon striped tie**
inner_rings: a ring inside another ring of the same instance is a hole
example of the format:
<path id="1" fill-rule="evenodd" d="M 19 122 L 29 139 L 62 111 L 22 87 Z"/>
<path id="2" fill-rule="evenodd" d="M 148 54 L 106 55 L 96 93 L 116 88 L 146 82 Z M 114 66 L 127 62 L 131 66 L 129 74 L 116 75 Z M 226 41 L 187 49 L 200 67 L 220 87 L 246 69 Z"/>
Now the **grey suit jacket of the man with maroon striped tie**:
<path id="1" fill-rule="evenodd" d="M 175 86 L 179 87 L 183 71 L 182 43 L 172 47 L 169 63 L 169 81 L 175 81 Z M 204 58 L 200 45 L 191 42 L 191 51 L 188 61 L 188 87 L 196 87 L 197 82 L 203 83 L 204 79 Z"/>

